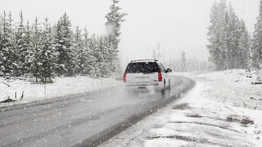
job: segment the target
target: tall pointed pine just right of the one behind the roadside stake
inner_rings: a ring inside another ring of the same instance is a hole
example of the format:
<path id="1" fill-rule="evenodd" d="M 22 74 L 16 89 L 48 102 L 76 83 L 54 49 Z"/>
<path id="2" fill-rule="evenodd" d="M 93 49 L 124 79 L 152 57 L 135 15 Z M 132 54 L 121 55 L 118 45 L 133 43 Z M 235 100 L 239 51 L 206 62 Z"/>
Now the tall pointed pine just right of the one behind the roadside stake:
<path id="1" fill-rule="evenodd" d="M 59 75 L 73 76 L 76 73 L 76 53 L 73 49 L 71 21 L 66 13 L 59 19 L 55 29 L 55 49 L 58 52 Z"/>

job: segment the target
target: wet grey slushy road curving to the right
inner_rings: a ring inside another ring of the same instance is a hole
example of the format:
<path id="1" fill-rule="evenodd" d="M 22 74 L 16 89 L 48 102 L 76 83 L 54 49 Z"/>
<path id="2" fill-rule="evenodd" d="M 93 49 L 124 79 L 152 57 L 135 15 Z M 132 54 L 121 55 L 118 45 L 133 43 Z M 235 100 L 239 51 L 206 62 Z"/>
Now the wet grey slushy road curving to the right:
<path id="1" fill-rule="evenodd" d="M 0 147 L 96 146 L 190 90 L 172 76 L 172 96 L 126 94 L 123 86 L 23 106 L 0 108 Z"/>

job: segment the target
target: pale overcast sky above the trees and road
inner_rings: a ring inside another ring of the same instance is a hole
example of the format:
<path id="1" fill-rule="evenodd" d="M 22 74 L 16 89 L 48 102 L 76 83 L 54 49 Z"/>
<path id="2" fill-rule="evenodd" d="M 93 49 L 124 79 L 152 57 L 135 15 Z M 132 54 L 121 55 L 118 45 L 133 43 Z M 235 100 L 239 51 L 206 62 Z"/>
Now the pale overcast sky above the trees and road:
<path id="1" fill-rule="evenodd" d="M 227 0 L 236 14 L 245 20 L 253 32 L 258 16 L 259 0 Z M 11 10 L 15 22 L 22 9 L 24 18 L 33 22 L 49 17 L 56 22 L 64 12 L 73 26 L 79 25 L 90 33 L 105 33 L 104 16 L 110 0 L 0 0 L 0 12 Z M 121 0 L 119 6 L 128 13 L 122 25 L 120 50 L 125 62 L 131 59 L 151 59 L 152 49 L 161 44 L 165 61 L 170 57 L 186 56 L 207 59 L 206 32 L 213 0 Z"/>

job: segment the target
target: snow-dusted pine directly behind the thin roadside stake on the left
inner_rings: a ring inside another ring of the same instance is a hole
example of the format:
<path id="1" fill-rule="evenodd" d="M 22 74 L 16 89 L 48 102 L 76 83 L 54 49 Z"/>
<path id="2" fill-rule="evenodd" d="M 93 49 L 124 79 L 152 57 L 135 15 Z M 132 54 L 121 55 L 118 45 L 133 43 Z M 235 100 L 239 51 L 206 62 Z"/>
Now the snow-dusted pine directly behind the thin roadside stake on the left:
<path id="1" fill-rule="evenodd" d="M 53 44 L 52 29 L 48 22 L 48 18 L 45 18 L 43 23 L 44 29 L 41 33 L 41 52 L 39 62 L 39 73 L 43 83 L 52 82 L 51 77 L 55 75 L 55 67 L 57 61 L 57 53 Z"/>

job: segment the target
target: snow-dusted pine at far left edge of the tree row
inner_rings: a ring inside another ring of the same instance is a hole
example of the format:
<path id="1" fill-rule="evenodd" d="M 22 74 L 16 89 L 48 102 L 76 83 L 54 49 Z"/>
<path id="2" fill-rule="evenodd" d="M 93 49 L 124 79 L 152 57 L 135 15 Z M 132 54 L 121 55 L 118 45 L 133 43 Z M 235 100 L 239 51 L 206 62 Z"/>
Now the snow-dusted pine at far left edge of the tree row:
<path id="1" fill-rule="evenodd" d="M 1 38 L 0 38 L 0 69 L 3 74 L 11 73 L 16 69 L 16 63 L 14 62 L 15 54 L 15 35 L 12 28 L 11 12 L 6 18 L 5 11 L 2 18 L 2 28 L 1 28 Z"/>

